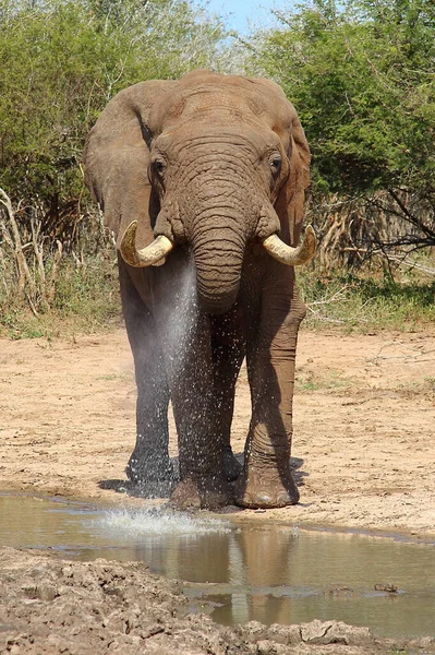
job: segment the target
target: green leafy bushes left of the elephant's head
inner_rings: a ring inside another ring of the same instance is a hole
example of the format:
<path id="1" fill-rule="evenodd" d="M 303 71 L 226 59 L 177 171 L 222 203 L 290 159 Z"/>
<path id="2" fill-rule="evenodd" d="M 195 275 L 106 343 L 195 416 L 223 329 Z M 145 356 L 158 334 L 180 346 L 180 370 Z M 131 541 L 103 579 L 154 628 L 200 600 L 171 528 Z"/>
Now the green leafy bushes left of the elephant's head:
<path id="1" fill-rule="evenodd" d="M 0 186 L 43 210 L 44 233 L 71 236 L 99 111 L 129 84 L 218 61 L 222 36 L 184 0 L 0 0 Z"/>

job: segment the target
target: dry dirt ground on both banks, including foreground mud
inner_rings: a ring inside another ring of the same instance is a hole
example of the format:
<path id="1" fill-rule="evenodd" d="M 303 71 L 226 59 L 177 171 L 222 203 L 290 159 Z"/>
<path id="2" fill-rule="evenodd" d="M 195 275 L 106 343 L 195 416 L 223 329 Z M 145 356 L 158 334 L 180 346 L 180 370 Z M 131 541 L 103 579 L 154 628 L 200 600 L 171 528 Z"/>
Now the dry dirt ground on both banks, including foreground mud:
<path id="1" fill-rule="evenodd" d="M 238 521 L 402 532 L 433 540 L 434 385 L 433 333 L 302 332 L 292 453 L 301 503 L 228 512 Z M 134 406 L 122 330 L 50 343 L 0 340 L 0 489 L 125 502 L 117 489 L 125 487 Z M 243 450 L 249 414 L 242 374 L 235 452 Z M 171 449 L 176 454 L 173 429 Z M 226 629 L 185 611 L 178 584 L 144 565 L 67 563 L 0 549 L 1 655 L 357 655 L 403 647 L 335 621 Z M 406 646 L 428 653 L 435 641 Z"/>

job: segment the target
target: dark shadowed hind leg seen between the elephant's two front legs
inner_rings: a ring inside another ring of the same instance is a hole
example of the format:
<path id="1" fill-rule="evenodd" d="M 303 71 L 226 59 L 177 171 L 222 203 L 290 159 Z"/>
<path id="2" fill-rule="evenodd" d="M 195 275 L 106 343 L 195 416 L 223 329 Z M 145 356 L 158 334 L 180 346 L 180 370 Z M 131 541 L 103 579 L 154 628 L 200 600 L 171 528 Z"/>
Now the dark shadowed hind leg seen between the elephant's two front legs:
<path id="1" fill-rule="evenodd" d="M 231 449 L 235 382 L 245 350 L 240 309 L 234 308 L 223 317 L 210 317 L 210 325 L 214 386 L 220 424 L 218 436 L 221 438 L 225 475 L 233 481 L 242 471 Z"/>

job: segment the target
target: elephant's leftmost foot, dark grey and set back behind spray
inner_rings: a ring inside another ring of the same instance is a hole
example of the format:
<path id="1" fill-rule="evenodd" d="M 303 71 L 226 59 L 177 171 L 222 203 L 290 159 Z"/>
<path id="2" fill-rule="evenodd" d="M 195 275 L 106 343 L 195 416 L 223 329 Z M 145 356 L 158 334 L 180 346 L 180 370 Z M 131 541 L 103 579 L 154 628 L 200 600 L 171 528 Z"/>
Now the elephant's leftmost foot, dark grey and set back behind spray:
<path id="1" fill-rule="evenodd" d="M 144 498 L 169 498 L 178 481 L 171 461 L 168 457 L 156 465 L 147 457 L 145 462 L 133 452 L 125 467 L 126 476 Z"/>

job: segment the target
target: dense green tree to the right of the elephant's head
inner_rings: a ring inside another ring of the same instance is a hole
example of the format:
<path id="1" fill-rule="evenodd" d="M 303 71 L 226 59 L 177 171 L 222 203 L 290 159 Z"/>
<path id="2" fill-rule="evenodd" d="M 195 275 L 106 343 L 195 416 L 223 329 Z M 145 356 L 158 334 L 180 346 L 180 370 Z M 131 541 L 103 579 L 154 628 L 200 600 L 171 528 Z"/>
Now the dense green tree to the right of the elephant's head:
<path id="1" fill-rule="evenodd" d="M 249 66 L 297 106 L 314 193 L 400 215 L 410 229 L 395 245 L 435 245 L 432 0 L 314 0 L 276 15 L 281 27 L 254 37 Z"/>

